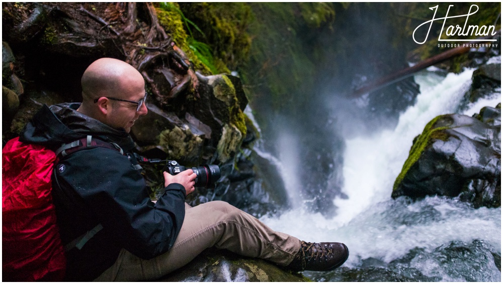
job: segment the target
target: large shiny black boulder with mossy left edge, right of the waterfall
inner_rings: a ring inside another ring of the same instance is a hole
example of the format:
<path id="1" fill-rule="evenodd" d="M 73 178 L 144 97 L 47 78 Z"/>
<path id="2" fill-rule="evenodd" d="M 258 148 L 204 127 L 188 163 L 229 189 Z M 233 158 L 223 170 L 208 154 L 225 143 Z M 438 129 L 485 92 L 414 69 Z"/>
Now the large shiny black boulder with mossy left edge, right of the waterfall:
<path id="1" fill-rule="evenodd" d="M 460 196 L 475 207 L 501 205 L 501 108 L 441 115 L 414 139 L 392 197 Z"/>

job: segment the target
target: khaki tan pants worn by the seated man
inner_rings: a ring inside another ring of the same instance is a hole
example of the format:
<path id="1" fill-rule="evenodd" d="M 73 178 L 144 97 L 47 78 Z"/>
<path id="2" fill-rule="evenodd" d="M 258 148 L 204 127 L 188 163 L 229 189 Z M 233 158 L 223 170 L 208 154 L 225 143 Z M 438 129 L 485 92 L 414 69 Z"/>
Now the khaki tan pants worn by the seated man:
<path id="1" fill-rule="evenodd" d="M 182 229 L 170 251 L 145 260 L 122 249 L 117 261 L 95 281 L 158 279 L 189 263 L 209 247 L 224 248 L 285 266 L 299 251 L 300 240 L 273 231 L 226 202 L 211 201 L 195 207 L 186 204 Z"/>

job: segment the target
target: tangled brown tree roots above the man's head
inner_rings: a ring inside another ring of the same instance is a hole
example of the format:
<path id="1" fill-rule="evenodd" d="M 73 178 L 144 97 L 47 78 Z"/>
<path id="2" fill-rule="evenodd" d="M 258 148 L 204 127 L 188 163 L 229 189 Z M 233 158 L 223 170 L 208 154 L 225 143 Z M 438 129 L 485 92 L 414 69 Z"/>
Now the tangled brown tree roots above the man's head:
<path id="1" fill-rule="evenodd" d="M 44 45 L 49 52 L 125 60 L 145 77 L 149 91 L 161 105 L 175 99 L 182 102 L 181 96 L 188 92 L 199 98 L 194 67 L 160 26 L 152 3 L 46 3 L 33 7 L 28 14 L 31 17 L 24 16 L 24 22 L 15 26 L 36 23 L 43 31 L 39 26 L 43 19 L 42 24 L 52 32 Z"/>

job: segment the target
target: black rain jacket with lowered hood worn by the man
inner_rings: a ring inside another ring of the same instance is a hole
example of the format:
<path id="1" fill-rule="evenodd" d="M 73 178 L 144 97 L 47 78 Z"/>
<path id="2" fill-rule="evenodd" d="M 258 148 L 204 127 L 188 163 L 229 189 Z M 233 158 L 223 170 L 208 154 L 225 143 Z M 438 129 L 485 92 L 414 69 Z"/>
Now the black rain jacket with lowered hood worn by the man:
<path id="1" fill-rule="evenodd" d="M 126 131 L 76 111 L 79 105 L 44 105 L 20 140 L 55 151 L 63 143 L 93 135 L 118 144 L 125 154 L 133 149 Z M 185 217 L 186 191 L 180 184 L 170 184 L 154 204 L 135 164 L 104 147 L 79 150 L 55 164 L 52 196 L 63 244 L 103 225 L 81 249 L 66 252 L 66 280 L 95 279 L 117 260 L 122 248 L 150 259 L 173 246 Z"/>

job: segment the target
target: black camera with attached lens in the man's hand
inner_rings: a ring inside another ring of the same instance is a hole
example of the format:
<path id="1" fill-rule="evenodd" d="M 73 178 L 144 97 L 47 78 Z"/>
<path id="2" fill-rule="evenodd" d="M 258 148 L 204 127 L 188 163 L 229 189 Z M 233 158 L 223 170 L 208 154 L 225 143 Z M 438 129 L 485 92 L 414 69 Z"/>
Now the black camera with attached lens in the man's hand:
<path id="1" fill-rule="evenodd" d="M 190 168 L 196 174 L 195 187 L 215 188 L 215 182 L 220 178 L 220 167 L 217 165 L 204 165 Z M 177 161 L 167 161 L 164 171 L 171 175 L 177 175 L 187 170 Z"/>

